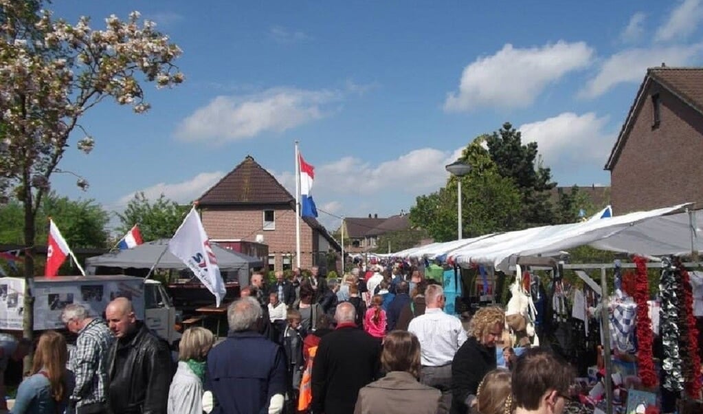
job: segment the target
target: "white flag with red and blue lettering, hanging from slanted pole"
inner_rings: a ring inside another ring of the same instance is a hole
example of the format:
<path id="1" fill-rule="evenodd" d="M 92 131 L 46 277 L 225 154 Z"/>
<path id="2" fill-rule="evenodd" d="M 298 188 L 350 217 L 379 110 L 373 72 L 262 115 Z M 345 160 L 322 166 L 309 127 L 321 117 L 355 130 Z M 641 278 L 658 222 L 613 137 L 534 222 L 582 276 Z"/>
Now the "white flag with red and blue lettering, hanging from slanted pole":
<path id="1" fill-rule="evenodd" d="M 217 266 L 217 258 L 212 253 L 212 247 L 195 207 L 176 230 L 169 242 L 169 251 L 193 270 L 207 290 L 215 295 L 215 304 L 219 307 L 226 291 Z"/>

